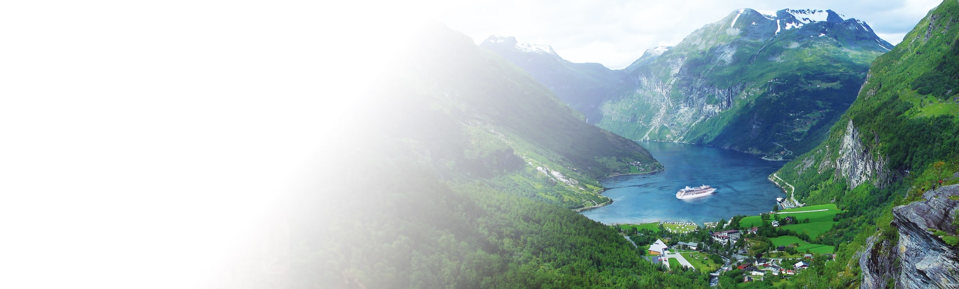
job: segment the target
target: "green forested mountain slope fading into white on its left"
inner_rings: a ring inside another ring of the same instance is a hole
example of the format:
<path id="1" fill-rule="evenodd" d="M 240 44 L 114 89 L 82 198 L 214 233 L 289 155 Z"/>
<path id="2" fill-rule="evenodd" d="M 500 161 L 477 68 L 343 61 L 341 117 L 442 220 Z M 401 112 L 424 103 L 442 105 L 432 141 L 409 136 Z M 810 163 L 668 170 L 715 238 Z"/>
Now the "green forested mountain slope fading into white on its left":
<path id="1" fill-rule="evenodd" d="M 641 146 L 582 122 L 463 34 L 429 25 L 409 41 L 380 89 L 352 100 L 356 113 L 311 177 L 317 189 L 293 198 L 279 285 L 708 286 L 662 273 L 569 210 L 595 178 L 659 166 Z"/>

